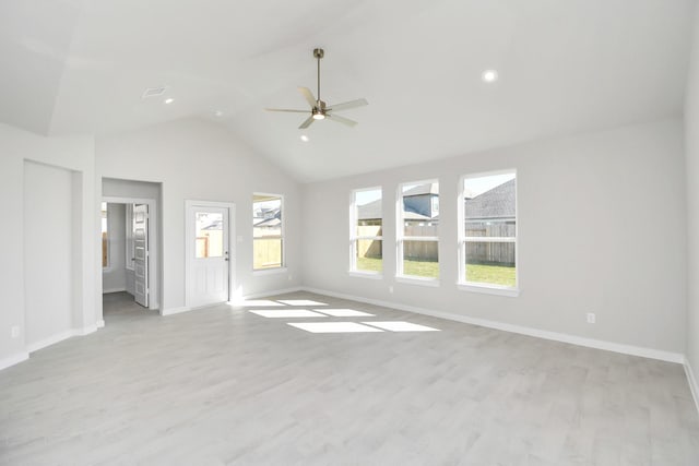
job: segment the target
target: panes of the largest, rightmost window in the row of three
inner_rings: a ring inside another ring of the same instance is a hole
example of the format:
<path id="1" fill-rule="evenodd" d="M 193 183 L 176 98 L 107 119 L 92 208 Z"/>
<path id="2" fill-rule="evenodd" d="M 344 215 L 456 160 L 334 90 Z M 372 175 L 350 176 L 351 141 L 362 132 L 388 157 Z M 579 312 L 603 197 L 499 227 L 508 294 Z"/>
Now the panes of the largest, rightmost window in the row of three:
<path id="1" fill-rule="evenodd" d="M 459 283 L 517 288 L 517 174 L 465 176 L 461 193 Z"/>

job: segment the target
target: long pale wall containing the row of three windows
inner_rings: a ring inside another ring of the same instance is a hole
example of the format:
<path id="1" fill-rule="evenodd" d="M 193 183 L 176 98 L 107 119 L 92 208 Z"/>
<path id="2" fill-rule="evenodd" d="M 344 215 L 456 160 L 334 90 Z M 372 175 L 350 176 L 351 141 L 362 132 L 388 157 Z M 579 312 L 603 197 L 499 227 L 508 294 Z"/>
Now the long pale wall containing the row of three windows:
<path id="1" fill-rule="evenodd" d="M 459 290 L 459 177 L 508 168 L 518 170 L 521 294 Z M 308 184 L 304 282 L 339 294 L 683 354 L 683 170 L 682 122 L 666 121 Z M 395 283 L 398 184 L 431 178 L 440 181 L 441 286 Z M 383 187 L 381 280 L 347 274 L 350 193 L 375 186 Z M 587 312 L 596 313 L 595 325 L 585 323 Z"/>

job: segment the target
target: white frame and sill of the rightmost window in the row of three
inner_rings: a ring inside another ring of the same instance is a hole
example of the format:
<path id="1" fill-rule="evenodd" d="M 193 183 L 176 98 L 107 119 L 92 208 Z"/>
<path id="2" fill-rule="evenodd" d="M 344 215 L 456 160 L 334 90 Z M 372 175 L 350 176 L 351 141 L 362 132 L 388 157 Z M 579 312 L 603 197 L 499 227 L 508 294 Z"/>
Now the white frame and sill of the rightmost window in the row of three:
<path id="1" fill-rule="evenodd" d="M 514 237 L 466 237 L 464 225 L 466 219 L 464 191 L 465 182 L 469 179 L 484 178 L 498 175 L 514 175 Z M 458 275 L 457 286 L 464 291 L 484 292 L 489 295 L 517 297 L 520 294 L 520 246 L 519 246 L 519 174 L 517 168 L 508 168 L 501 170 L 479 171 L 465 174 L 459 178 L 458 198 L 457 198 L 457 225 L 458 225 Z M 466 280 L 466 243 L 467 242 L 511 242 L 514 243 L 514 286 L 503 286 L 496 284 L 487 284 L 481 282 Z"/>

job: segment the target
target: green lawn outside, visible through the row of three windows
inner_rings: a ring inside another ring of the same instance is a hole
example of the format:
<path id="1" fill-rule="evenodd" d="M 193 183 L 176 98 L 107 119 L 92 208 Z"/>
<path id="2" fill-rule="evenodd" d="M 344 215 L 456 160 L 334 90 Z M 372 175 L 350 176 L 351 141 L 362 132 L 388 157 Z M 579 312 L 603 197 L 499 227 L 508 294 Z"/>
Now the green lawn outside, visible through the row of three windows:
<path id="1" fill-rule="evenodd" d="M 360 271 L 381 272 L 381 260 L 372 258 L 357 258 L 357 268 Z M 420 277 L 438 277 L 439 265 L 436 262 L 405 261 L 403 264 L 405 275 Z M 466 264 L 466 277 L 469 282 L 487 283 L 514 287 L 514 267 L 502 265 Z"/>

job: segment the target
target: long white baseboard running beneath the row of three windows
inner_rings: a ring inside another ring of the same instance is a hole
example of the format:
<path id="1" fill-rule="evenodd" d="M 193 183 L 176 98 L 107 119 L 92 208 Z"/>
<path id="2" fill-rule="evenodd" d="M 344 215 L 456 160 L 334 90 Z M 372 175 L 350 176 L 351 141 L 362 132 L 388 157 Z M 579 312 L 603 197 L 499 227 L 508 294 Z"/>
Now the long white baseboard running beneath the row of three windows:
<path id="1" fill-rule="evenodd" d="M 342 292 L 329 291 L 329 290 L 318 289 L 312 287 L 304 287 L 304 289 L 306 291 L 316 292 L 318 295 L 327 295 L 327 296 L 332 296 L 341 299 L 350 299 L 353 301 L 366 302 L 368 304 L 382 306 L 384 308 L 393 308 L 393 309 L 399 309 L 401 311 L 430 315 L 433 318 L 463 322 L 472 325 L 478 325 L 478 326 L 484 326 L 488 328 L 501 330 L 505 332 L 518 333 L 521 335 L 535 336 L 537 338 L 550 339 L 554 342 L 569 343 L 571 345 L 584 346 L 588 348 L 604 349 L 607 351 L 620 353 L 624 355 L 631 355 L 631 356 L 640 356 L 642 358 L 657 359 L 661 361 L 676 362 L 680 365 L 685 362 L 685 356 L 679 353 L 671 353 L 671 351 L 663 351 L 660 349 L 643 348 L 640 346 L 625 345 L 620 343 L 606 342 L 602 339 L 585 338 L 582 336 L 569 335 L 569 334 L 558 333 L 558 332 L 548 332 L 544 330 L 513 325 L 513 324 L 508 324 L 503 322 L 470 318 L 467 315 L 434 311 L 430 309 L 417 308 L 415 306 L 401 304 L 398 302 L 382 301 L 378 299 L 363 298 L 360 296 L 345 295 Z"/>

